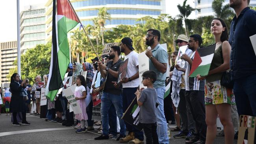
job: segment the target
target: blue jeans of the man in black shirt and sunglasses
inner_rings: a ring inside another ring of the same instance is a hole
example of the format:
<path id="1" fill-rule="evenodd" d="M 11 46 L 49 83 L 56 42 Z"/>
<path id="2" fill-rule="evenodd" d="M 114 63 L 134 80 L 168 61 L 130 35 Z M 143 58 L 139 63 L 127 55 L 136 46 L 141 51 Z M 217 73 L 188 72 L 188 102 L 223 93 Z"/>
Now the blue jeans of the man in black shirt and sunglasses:
<path id="1" fill-rule="evenodd" d="M 110 94 L 108 92 L 103 92 L 101 97 L 101 120 L 102 120 L 102 134 L 108 135 L 109 134 L 109 125 L 108 125 L 108 111 L 111 105 L 114 105 L 115 110 L 117 112 L 117 116 L 119 118 L 120 123 L 120 135 L 125 135 L 126 128 L 124 124 L 124 120 L 122 120 L 122 94 L 115 95 Z"/>

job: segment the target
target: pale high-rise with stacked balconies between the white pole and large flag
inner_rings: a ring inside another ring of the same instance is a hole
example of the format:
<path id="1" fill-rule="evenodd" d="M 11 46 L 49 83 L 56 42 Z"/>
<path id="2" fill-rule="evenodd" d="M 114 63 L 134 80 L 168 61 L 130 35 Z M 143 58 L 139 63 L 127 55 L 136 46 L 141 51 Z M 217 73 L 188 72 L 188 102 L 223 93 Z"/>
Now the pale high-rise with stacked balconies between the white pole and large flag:
<path id="1" fill-rule="evenodd" d="M 20 13 L 20 49 L 25 52 L 37 44 L 45 44 L 45 6 L 25 6 Z"/>

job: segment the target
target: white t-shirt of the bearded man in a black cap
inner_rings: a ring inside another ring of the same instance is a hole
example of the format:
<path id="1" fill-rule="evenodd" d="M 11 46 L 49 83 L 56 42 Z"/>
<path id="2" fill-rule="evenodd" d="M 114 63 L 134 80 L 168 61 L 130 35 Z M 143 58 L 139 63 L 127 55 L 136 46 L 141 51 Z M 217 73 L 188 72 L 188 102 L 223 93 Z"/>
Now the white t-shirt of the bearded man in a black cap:
<path id="1" fill-rule="evenodd" d="M 138 55 L 139 54 L 137 52 L 132 51 L 124 58 L 124 61 L 129 58 L 127 64 L 127 72 L 125 76 L 126 78 L 134 76 L 134 74 L 136 74 L 139 71 L 139 69 L 136 67 L 139 65 Z M 139 87 L 139 78 L 129 81 L 127 83 L 122 83 L 122 87 Z"/>

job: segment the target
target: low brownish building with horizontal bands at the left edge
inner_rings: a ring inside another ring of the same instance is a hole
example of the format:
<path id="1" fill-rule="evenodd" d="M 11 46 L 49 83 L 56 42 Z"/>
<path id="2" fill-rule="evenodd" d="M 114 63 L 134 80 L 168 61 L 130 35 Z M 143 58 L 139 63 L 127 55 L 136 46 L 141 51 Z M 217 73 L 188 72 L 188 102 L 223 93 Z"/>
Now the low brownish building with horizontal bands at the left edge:
<path id="1" fill-rule="evenodd" d="M 6 76 L 11 68 L 15 68 L 13 62 L 17 59 L 17 41 L 0 43 L 0 85 L 1 87 L 9 87 L 10 79 Z"/>

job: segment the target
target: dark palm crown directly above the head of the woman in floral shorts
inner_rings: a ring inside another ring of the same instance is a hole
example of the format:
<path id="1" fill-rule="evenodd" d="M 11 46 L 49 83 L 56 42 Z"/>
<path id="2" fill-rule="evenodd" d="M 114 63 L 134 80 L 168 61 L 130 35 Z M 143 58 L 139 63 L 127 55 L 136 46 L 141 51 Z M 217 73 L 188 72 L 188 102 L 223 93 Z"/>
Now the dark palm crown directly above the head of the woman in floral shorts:
<path id="1" fill-rule="evenodd" d="M 211 6 L 217 18 L 227 20 L 234 15 L 234 12 L 230 9 L 229 4 L 222 6 L 224 2 L 225 0 L 213 0 Z"/>

